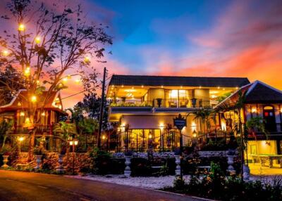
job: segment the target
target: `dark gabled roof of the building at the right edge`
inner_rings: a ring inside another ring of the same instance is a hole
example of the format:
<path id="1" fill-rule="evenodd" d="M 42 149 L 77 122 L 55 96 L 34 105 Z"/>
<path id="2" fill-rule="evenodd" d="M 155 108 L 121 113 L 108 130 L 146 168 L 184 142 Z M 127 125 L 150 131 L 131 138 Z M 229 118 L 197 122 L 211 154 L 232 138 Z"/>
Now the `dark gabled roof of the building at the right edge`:
<path id="1" fill-rule="evenodd" d="M 275 89 L 261 81 L 242 86 L 238 91 L 221 101 L 215 108 L 223 105 L 234 105 L 238 100 L 239 93 L 245 93 L 244 103 L 282 103 L 282 91 Z"/>

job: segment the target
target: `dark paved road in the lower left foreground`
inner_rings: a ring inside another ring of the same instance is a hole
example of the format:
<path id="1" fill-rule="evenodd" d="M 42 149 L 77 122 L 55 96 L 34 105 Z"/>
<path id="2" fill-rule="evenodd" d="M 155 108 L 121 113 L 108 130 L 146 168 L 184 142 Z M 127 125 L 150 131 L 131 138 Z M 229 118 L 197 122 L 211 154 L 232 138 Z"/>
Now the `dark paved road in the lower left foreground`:
<path id="1" fill-rule="evenodd" d="M 191 200 L 195 197 L 66 176 L 0 170 L 0 200 Z"/>

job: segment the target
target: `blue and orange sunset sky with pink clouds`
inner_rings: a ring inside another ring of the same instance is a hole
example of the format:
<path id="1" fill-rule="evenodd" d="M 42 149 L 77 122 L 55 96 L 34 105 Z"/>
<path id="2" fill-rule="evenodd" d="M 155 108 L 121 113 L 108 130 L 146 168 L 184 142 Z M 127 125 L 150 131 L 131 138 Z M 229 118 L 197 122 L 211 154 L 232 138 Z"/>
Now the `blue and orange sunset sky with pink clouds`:
<path id="1" fill-rule="evenodd" d="M 69 2 L 109 25 L 109 74 L 248 77 L 282 89 L 281 0 Z M 72 86 L 62 96 L 78 91 Z M 81 98 L 65 99 L 64 108 Z"/>

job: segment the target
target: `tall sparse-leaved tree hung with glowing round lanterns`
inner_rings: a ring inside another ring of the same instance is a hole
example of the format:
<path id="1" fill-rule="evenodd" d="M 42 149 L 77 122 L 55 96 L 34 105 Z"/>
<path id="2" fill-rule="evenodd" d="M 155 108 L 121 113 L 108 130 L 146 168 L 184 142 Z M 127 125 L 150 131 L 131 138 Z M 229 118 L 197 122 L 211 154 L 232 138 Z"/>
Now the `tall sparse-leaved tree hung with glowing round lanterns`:
<path id="1" fill-rule="evenodd" d="M 79 5 L 69 8 L 67 1 L 61 12 L 56 3 L 47 8 L 31 0 L 11 0 L 7 6 L 10 13 L 1 19 L 18 27 L 1 34 L 0 68 L 15 66 L 23 82 L 19 84 L 27 90 L 27 97 L 19 98 L 28 103 L 25 117 L 30 129 L 29 160 L 32 160 L 39 122 L 35 112 L 43 110 L 51 92 L 66 89 L 65 81 L 70 77 L 79 76 L 85 90 L 95 89 L 97 74 L 90 58 L 104 62 L 101 59 L 105 46 L 112 44 L 112 39 L 102 25 L 87 23 Z M 6 87 L 16 93 L 7 84 Z M 47 96 L 39 107 L 37 100 L 42 91 L 47 91 Z"/>

